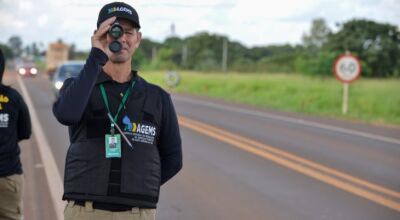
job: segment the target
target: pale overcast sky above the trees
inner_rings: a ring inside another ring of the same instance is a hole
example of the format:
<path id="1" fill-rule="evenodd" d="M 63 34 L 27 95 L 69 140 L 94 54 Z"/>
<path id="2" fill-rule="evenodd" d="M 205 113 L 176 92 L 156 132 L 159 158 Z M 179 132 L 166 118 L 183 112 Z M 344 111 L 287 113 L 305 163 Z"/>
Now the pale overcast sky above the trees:
<path id="1" fill-rule="evenodd" d="M 90 48 L 103 0 L 0 0 L 0 42 L 24 44 L 62 38 Z M 171 24 L 179 37 L 200 31 L 223 34 L 246 46 L 296 44 L 316 17 L 336 23 L 366 18 L 400 26 L 400 0 L 142 0 L 125 1 L 139 13 L 143 36 L 163 41 Z"/>

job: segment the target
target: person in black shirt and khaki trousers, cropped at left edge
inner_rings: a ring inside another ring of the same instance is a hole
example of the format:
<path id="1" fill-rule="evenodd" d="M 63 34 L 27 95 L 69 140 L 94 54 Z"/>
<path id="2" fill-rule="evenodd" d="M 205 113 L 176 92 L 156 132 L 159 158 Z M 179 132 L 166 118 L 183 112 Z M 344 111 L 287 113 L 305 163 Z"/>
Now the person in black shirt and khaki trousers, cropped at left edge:
<path id="1" fill-rule="evenodd" d="M 0 49 L 0 219 L 21 219 L 23 175 L 18 142 L 31 136 L 31 121 L 21 95 L 2 83 L 4 68 Z"/>

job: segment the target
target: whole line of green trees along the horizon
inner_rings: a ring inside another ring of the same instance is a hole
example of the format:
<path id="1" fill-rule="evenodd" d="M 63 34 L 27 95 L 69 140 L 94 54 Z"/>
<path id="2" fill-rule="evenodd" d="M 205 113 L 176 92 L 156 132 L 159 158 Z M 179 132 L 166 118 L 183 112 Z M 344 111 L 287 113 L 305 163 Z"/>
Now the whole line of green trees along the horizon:
<path id="1" fill-rule="evenodd" d="M 169 37 L 164 42 L 142 39 L 132 65 L 141 70 L 196 70 L 237 72 L 286 72 L 332 75 L 332 63 L 346 51 L 361 60 L 363 75 L 400 77 L 400 30 L 395 25 L 352 19 L 332 31 L 322 18 L 312 21 L 298 45 L 246 47 L 227 36 L 200 32 L 186 38 Z M 36 43 L 22 47 L 19 37 L 0 44 L 12 58 L 25 52 L 44 54 Z M 85 59 L 87 51 L 70 46 L 71 59 Z"/>

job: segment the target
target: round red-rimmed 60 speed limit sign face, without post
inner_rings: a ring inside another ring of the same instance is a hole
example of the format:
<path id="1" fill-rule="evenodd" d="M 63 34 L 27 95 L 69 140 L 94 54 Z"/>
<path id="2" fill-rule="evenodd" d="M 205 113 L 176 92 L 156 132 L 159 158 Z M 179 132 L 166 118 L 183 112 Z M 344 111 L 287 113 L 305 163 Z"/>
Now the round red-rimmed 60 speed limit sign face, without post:
<path id="1" fill-rule="evenodd" d="M 351 54 L 342 54 L 336 58 L 333 72 L 338 80 L 351 83 L 361 74 L 360 60 Z"/>

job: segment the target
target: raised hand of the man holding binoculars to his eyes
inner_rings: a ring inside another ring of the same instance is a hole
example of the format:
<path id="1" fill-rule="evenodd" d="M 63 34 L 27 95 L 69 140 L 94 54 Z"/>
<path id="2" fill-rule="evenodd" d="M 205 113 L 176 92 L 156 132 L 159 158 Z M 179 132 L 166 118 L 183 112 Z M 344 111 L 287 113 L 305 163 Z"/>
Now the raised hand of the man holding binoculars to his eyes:
<path id="1" fill-rule="evenodd" d="M 104 53 L 106 53 L 108 57 L 111 56 L 111 51 L 108 49 L 107 32 L 115 19 L 116 17 L 113 16 L 105 20 L 103 23 L 100 24 L 100 27 L 94 31 L 94 34 L 92 36 L 92 47 L 99 48 Z"/>

